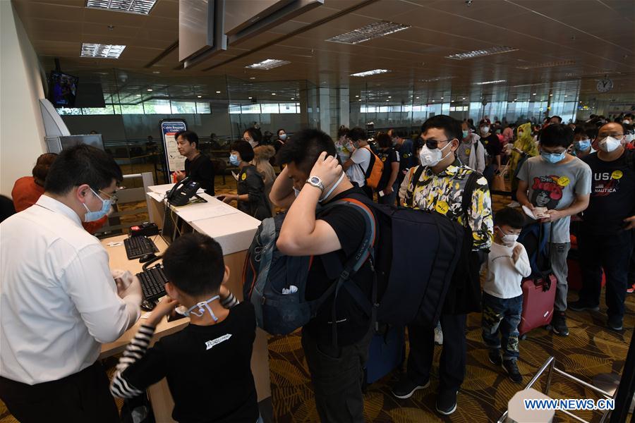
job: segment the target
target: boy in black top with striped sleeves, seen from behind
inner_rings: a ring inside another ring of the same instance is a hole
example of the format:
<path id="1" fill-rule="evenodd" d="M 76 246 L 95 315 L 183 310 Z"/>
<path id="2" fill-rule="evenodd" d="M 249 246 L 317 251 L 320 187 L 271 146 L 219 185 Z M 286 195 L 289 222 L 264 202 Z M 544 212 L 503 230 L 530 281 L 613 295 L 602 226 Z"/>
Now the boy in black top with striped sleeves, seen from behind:
<path id="1" fill-rule="evenodd" d="M 111 393 L 133 398 L 165 377 L 174 398 L 172 418 L 178 422 L 260 422 L 251 373 L 255 314 L 249 302 L 236 305 L 222 286 L 229 268 L 220 245 L 207 235 L 188 233 L 171 243 L 163 264 L 169 296 L 124 351 Z M 179 303 L 190 324 L 148 349 L 159 321 Z"/>

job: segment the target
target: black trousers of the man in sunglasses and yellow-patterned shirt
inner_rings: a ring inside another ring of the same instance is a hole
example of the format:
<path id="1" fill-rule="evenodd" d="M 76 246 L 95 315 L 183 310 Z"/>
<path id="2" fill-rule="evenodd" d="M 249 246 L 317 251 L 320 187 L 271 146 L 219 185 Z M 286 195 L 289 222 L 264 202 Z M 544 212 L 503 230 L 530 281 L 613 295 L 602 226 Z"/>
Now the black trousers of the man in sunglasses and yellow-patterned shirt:
<path id="1" fill-rule="evenodd" d="M 439 391 L 458 390 L 465 376 L 466 314 L 442 314 L 443 345 L 439 362 Z M 423 385 L 430 378 L 435 355 L 435 329 L 410 324 L 408 326 L 410 355 L 408 379 Z"/>

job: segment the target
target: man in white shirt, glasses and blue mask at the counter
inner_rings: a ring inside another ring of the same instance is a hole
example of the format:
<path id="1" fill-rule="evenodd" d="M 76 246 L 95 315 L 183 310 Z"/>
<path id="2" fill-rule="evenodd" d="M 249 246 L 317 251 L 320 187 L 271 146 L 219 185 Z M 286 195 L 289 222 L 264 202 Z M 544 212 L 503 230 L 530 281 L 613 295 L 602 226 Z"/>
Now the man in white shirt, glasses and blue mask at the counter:
<path id="1" fill-rule="evenodd" d="M 121 179 L 106 152 L 72 147 L 0 224 L 0 398 L 20 422 L 119 422 L 97 357 L 139 318 L 141 288 L 115 282 L 82 221 L 110 211 Z"/>

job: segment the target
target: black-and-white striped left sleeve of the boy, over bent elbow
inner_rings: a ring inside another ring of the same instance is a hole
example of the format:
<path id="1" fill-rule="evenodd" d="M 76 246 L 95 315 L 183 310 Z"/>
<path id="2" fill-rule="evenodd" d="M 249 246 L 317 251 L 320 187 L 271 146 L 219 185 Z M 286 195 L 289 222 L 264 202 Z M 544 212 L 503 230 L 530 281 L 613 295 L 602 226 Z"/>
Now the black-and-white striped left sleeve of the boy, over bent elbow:
<path id="1" fill-rule="evenodd" d="M 110 392 L 113 396 L 119 398 L 134 398 L 143 393 L 142 390 L 135 388 L 135 386 L 126 380 L 123 376 L 123 371 L 131 364 L 143 358 L 145 353 L 147 353 L 147 348 L 150 346 L 150 341 L 152 341 L 152 335 L 154 334 L 155 328 L 141 325 L 131 343 L 129 343 L 126 350 L 123 351 L 123 356 L 119 359 L 119 364 L 116 366 L 116 372 L 110 383 Z"/>

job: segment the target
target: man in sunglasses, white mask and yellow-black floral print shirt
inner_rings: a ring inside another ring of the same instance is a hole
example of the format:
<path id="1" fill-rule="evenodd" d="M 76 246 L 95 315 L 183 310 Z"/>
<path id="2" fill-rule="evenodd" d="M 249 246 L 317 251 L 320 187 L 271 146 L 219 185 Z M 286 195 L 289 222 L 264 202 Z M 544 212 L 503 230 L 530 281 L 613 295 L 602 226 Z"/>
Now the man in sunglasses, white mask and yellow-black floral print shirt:
<path id="1" fill-rule="evenodd" d="M 471 231 L 473 254 L 470 280 L 466 284 L 478 286 L 478 268 L 492 243 L 492 201 L 487 181 L 477 173 L 471 204 L 468 212 L 464 212 L 463 192 L 469 176 L 476 171 L 456 159 L 455 152 L 461 137 L 461 123 L 450 116 L 433 116 L 425 121 L 421 127 L 424 145 L 419 154 L 423 171 L 417 172 L 418 166 L 412 168 L 401 185 L 401 191 L 405 191 L 406 207 L 444 214 Z M 418 180 L 413 180 L 415 175 Z M 458 295 L 465 291 L 453 288 L 456 287 L 449 287 L 440 318 L 444 339 L 436 408 L 443 415 L 452 414 L 456 410 L 456 393 L 465 374 L 466 315 L 479 307 L 479 295 L 476 298 Z M 477 292 L 480 294 L 480 290 L 477 289 Z M 408 372 L 392 389 L 397 398 L 409 398 L 418 389 L 430 386 L 430 367 L 434 356 L 433 328 L 411 324 L 408 326 L 408 333 Z"/>

